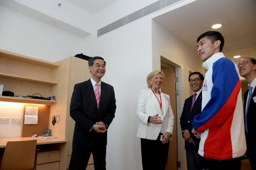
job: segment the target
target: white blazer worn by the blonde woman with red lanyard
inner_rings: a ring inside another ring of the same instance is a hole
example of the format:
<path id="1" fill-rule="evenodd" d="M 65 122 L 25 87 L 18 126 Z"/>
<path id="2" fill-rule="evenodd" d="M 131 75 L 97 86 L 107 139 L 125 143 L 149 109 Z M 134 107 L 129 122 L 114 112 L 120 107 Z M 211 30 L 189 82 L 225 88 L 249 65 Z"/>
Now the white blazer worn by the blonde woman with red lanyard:
<path id="1" fill-rule="evenodd" d="M 137 137 L 156 140 L 162 125 L 163 133 L 169 132 L 171 135 L 173 134 L 174 116 L 171 109 L 170 97 L 167 94 L 161 93 L 161 98 L 163 114 L 159 101 L 152 90 L 140 90 L 137 106 L 137 117 L 140 120 L 140 125 Z M 155 125 L 148 122 L 149 116 L 154 116 L 156 114 L 162 117 L 162 124 Z"/>

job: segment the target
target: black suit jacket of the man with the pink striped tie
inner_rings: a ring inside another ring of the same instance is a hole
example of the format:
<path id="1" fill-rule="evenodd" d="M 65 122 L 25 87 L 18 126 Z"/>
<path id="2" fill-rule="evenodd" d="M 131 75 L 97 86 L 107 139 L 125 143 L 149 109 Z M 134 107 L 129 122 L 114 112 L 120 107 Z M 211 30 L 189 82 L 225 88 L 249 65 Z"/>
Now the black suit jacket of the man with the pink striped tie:
<path id="1" fill-rule="evenodd" d="M 116 99 L 114 88 L 101 82 L 100 103 L 97 101 L 91 80 L 75 84 L 70 103 L 70 116 L 76 122 L 73 145 L 90 148 L 107 145 L 107 131 L 97 133 L 91 130 L 96 122 L 102 121 L 108 128 L 115 117 Z"/>

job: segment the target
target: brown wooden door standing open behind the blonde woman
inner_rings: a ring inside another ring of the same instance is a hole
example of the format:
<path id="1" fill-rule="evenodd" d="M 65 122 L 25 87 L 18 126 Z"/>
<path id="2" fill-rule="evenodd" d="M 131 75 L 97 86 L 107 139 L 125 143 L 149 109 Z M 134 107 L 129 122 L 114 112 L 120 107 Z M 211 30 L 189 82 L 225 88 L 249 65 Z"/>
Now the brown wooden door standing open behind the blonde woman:
<path id="1" fill-rule="evenodd" d="M 175 96 L 175 67 L 161 69 L 164 73 L 164 82 L 162 92 L 170 96 L 171 108 L 174 115 L 173 135 L 169 144 L 169 152 L 166 170 L 177 170 L 178 151 L 177 151 L 177 112 L 176 112 L 176 96 Z"/>

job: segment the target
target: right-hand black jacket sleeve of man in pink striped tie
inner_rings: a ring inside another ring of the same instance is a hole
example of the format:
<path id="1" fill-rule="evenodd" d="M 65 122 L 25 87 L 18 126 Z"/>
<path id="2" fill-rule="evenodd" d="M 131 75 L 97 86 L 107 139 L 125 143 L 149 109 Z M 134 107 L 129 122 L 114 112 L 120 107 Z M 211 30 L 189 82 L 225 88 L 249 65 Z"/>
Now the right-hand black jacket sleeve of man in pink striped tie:
<path id="1" fill-rule="evenodd" d="M 110 123 L 113 121 L 116 112 L 116 98 L 113 86 L 111 86 L 111 97 L 109 101 L 109 106 L 107 109 L 107 115 L 103 119 L 103 123 L 109 127 Z"/>

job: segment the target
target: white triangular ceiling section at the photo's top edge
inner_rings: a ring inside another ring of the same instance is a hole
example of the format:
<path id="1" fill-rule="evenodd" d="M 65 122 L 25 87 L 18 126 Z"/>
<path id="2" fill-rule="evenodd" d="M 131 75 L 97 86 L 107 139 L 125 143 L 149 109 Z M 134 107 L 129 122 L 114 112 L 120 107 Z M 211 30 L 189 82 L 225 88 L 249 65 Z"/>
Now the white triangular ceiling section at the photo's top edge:
<path id="1" fill-rule="evenodd" d="M 89 12 L 90 14 L 96 14 L 97 12 L 103 10 L 107 6 L 118 0 L 66 0 L 78 8 Z"/>

